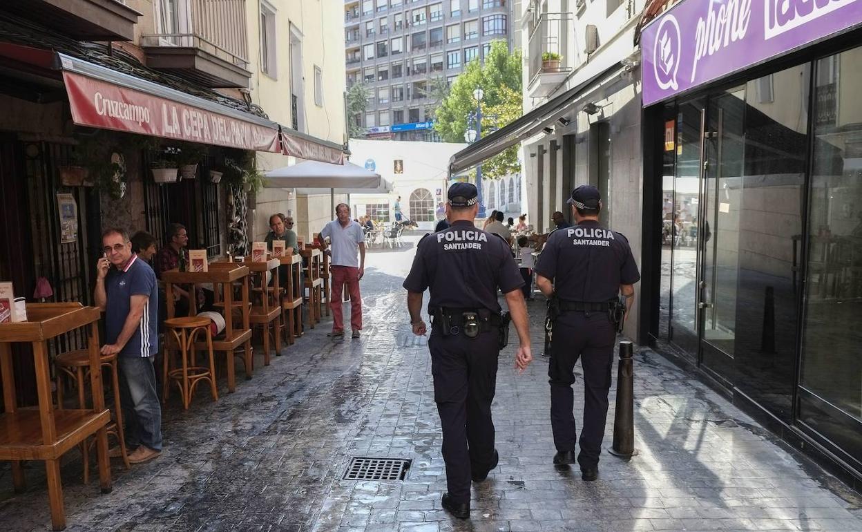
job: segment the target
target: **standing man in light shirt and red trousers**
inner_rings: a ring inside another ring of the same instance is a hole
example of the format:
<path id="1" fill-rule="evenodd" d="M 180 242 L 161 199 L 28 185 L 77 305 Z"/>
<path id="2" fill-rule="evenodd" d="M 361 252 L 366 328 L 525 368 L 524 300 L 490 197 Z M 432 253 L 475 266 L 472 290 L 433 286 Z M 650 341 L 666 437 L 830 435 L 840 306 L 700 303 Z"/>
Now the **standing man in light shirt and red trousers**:
<path id="1" fill-rule="evenodd" d="M 353 338 L 359 338 L 362 330 L 362 297 L 359 295 L 359 279 L 365 274 L 365 235 L 362 227 L 350 219 L 350 207 L 339 203 L 335 207 L 336 220 L 323 226 L 320 233 L 322 249 L 327 249 L 326 237 L 332 245 L 332 292 L 329 294 L 329 308 L 332 309 L 332 332 L 328 336 L 344 335 L 344 318 L 341 311 L 341 293 L 347 284 L 350 293 L 350 327 Z M 356 250 L 359 249 L 359 260 Z"/>

